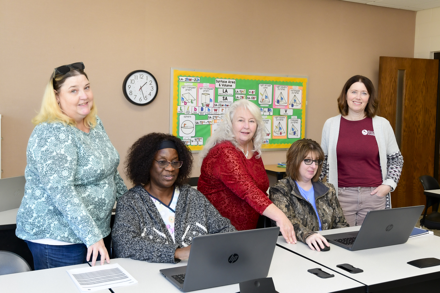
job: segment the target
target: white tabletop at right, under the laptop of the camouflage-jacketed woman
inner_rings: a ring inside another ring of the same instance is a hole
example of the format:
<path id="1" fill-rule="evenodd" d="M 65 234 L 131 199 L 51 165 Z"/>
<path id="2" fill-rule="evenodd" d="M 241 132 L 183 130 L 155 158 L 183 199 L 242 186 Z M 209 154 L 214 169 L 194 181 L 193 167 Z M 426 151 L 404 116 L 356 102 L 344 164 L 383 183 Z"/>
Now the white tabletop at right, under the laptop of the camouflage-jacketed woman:
<path id="1" fill-rule="evenodd" d="M 319 233 L 326 235 L 359 231 L 359 229 L 360 226 L 356 226 Z M 425 257 L 440 259 L 440 237 L 435 235 L 408 239 L 403 244 L 356 251 L 330 244 L 329 251 L 318 252 L 311 250 L 303 242 L 288 244 L 282 236 L 279 236 L 277 244 L 367 285 L 367 292 L 440 279 L 440 266 L 416 268 L 407 264 L 408 261 Z M 363 272 L 350 274 L 337 268 L 338 264 L 351 264 L 355 268 L 362 269 Z"/>

